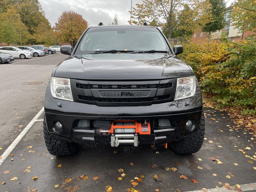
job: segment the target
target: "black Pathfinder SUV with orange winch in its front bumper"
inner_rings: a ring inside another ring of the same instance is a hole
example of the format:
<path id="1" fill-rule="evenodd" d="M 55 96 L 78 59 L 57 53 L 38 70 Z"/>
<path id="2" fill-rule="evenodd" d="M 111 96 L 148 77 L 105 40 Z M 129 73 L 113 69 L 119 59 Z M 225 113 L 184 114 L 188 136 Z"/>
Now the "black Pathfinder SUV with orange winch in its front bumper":
<path id="1" fill-rule="evenodd" d="M 52 73 L 45 98 L 44 139 L 52 155 L 78 144 L 169 145 L 196 153 L 204 140 L 198 80 L 157 27 L 94 26 Z"/>

